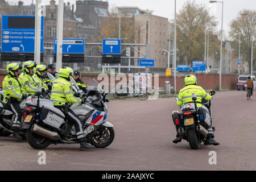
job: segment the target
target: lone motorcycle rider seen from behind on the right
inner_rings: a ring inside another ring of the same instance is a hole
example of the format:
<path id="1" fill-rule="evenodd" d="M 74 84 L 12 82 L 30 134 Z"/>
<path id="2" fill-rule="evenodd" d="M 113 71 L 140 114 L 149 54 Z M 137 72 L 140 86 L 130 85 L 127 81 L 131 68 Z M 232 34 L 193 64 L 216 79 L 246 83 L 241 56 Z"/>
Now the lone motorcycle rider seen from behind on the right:
<path id="1" fill-rule="evenodd" d="M 205 90 L 201 87 L 197 85 L 197 79 L 194 75 L 187 75 L 184 78 L 184 82 L 185 82 L 185 87 L 180 89 L 179 92 L 179 98 L 177 100 L 177 106 L 181 107 L 183 104 L 185 103 L 194 103 L 194 101 L 192 100 L 192 93 L 196 94 L 197 100 L 196 100 L 196 105 L 197 108 L 201 107 L 203 109 L 206 109 L 208 112 L 207 107 L 203 106 L 201 104 L 202 99 L 205 100 L 211 100 L 212 96 L 210 96 L 209 94 L 207 94 L 205 92 Z M 216 142 L 213 138 L 213 130 L 212 130 L 212 118 L 210 119 L 210 126 L 207 128 L 208 134 L 207 134 L 207 144 L 213 144 L 213 145 L 218 145 L 220 143 Z M 181 142 L 181 137 L 180 135 L 177 133 L 176 135 L 176 139 L 174 139 L 172 142 L 174 143 L 178 143 Z"/>

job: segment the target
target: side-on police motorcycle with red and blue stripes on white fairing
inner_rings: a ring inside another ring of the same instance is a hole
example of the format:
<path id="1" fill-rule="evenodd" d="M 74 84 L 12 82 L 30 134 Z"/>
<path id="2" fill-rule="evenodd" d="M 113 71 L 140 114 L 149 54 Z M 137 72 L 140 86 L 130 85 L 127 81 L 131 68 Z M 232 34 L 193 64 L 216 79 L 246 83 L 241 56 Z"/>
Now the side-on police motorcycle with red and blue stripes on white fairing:
<path id="1" fill-rule="evenodd" d="M 51 79 L 54 82 L 55 78 Z M 113 142 L 115 134 L 113 125 L 106 121 L 108 114 L 106 102 L 109 102 L 106 92 L 98 91 L 96 80 L 92 80 L 93 85 L 87 86 L 86 95 L 79 90 L 73 77 L 71 82 L 73 89 L 80 93 L 80 97 L 85 100 L 82 104 L 72 104 L 70 109 L 79 116 L 86 142 L 98 148 L 109 146 Z M 36 92 L 36 95 L 40 95 L 40 90 Z M 53 106 L 51 100 L 33 96 L 28 98 L 25 104 L 27 112 L 24 114 L 26 118 L 23 121 L 23 129 L 26 129 L 27 141 L 31 147 L 44 149 L 50 144 L 79 143 L 76 138 L 75 125 L 65 119 L 64 114 Z M 65 131 L 65 135 L 63 135 L 63 131 Z"/>

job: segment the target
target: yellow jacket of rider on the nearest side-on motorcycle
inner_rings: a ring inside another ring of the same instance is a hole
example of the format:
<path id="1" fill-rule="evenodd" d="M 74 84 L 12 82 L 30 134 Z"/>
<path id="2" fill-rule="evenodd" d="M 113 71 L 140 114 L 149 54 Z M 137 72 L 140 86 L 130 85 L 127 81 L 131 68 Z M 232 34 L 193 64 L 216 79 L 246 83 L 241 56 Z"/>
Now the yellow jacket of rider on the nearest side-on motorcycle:
<path id="1" fill-rule="evenodd" d="M 61 106 L 67 103 L 80 103 L 81 98 L 73 95 L 71 82 L 65 80 L 65 78 L 57 78 L 52 85 L 51 101 L 53 105 Z"/>

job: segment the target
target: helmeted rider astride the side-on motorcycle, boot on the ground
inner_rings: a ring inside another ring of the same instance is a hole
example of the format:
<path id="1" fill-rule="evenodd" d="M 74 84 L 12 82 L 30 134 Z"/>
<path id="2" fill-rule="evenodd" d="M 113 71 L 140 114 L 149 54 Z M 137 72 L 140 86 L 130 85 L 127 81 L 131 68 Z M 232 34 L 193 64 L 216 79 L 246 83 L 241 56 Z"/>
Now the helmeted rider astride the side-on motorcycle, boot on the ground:
<path id="1" fill-rule="evenodd" d="M 93 148 L 93 146 L 86 143 L 84 130 L 82 130 L 82 124 L 79 117 L 68 107 L 69 103 L 80 103 L 81 98 L 73 96 L 73 90 L 71 82 L 71 76 L 73 75 L 73 69 L 69 67 L 63 67 L 59 69 L 59 78 L 53 82 L 52 94 L 50 100 L 53 101 L 53 105 L 60 109 L 68 122 L 75 124 L 76 136 L 80 143 L 80 150 L 86 150 Z M 67 135 L 67 133 L 63 133 Z"/>

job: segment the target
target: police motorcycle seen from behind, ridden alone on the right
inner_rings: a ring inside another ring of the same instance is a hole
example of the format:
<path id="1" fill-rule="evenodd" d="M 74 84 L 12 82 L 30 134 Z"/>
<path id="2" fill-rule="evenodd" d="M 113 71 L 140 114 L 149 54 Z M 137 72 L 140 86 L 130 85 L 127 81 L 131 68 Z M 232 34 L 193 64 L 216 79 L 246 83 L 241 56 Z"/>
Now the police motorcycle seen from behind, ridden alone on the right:
<path id="1" fill-rule="evenodd" d="M 209 94 L 213 96 L 215 92 L 211 91 Z M 197 108 L 196 94 L 193 93 L 192 96 L 193 103 L 183 104 L 180 113 L 173 111 L 172 120 L 182 139 L 187 140 L 192 149 L 199 149 L 202 142 L 207 145 L 207 128 L 211 125 L 212 109 L 210 100 L 204 99 L 201 102 L 203 106 Z M 212 129 L 215 130 L 214 127 Z"/>

